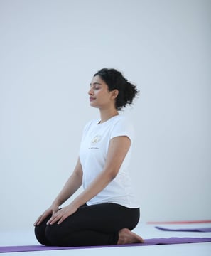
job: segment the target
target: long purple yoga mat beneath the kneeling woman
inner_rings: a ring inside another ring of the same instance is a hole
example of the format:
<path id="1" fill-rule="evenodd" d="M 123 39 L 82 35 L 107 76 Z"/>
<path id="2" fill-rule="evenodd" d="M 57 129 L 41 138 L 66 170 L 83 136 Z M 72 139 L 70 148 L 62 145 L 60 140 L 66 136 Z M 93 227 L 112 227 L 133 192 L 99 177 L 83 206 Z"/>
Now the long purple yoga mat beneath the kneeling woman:
<path id="1" fill-rule="evenodd" d="M 107 247 L 129 247 L 129 246 L 144 246 L 144 245 L 173 245 L 195 242 L 211 242 L 211 238 L 151 238 L 146 239 L 144 243 L 136 243 L 130 245 L 102 245 L 102 246 L 82 246 L 82 247 L 53 247 L 43 245 L 20 245 L 20 246 L 4 246 L 0 247 L 2 252 L 33 252 L 43 250 L 72 250 L 72 249 L 94 249 Z"/>

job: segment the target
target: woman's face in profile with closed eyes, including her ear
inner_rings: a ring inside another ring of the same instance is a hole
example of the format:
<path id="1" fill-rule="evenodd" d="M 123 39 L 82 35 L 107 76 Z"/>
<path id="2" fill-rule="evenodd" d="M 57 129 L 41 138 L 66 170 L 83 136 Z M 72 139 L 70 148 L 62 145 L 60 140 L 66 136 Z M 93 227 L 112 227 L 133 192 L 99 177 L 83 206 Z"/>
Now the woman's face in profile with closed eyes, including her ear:
<path id="1" fill-rule="evenodd" d="M 90 95 L 90 106 L 102 109 L 115 105 L 115 95 L 118 94 L 118 91 L 115 91 L 117 90 L 109 91 L 108 85 L 99 75 L 94 76 L 88 92 Z"/>

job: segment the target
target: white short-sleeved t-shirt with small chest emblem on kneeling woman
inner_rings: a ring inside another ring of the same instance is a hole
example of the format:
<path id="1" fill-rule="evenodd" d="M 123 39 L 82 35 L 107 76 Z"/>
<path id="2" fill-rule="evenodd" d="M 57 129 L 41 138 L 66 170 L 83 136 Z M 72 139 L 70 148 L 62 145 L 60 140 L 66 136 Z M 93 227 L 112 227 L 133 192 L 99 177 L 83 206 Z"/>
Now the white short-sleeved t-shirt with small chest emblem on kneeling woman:
<path id="1" fill-rule="evenodd" d="M 109 141 L 118 136 L 129 137 L 132 146 L 134 129 L 124 116 L 117 115 L 103 123 L 99 123 L 99 119 L 94 119 L 86 124 L 80 144 L 82 185 L 84 188 L 87 188 L 104 169 Z M 139 208 L 129 178 L 131 146 L 117 176 L 100 193 L 88 201 L 87 205 L 118 203 L 128 208 Z"/>

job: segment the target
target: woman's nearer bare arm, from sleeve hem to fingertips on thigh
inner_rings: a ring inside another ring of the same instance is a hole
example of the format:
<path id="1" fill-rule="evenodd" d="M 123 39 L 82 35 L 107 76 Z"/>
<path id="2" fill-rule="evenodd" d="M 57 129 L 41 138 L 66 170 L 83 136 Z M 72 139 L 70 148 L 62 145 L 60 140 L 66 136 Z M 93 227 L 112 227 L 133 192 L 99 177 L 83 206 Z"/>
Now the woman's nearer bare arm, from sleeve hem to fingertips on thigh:
<path id="1" fill-rule="evenodd" d="M 65 218 L 75 213 L 80 206 L 87 203 L 87 201 L 102 191 L 117 176 L 120 166 L 129 151 L 130 145 L 131 141 L 129 137 L 126 136 L 114 137 L 111 139 L 107 161 L 103 171 L 94 179 L 85 191 L 80 193 L 80 195 L 70 203 L 69 206 L 59 210 L 52 218 L 50 218 L 48 223 L 62 223 Z"/>

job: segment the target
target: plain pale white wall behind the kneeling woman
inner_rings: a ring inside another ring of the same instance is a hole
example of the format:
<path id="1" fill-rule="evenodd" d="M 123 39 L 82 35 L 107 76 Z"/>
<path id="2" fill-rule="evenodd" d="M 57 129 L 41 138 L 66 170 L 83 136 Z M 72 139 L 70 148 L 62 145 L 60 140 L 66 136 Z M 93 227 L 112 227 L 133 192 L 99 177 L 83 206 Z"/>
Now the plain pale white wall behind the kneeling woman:
<path id="1" fill-rule="evenodd" d="M 104 67 L 141 90 L 126 114 L 142 221 L 211 218 L 210 3 L 0 0 L 1 230 L 33 228 L 60 191 Z"/>

